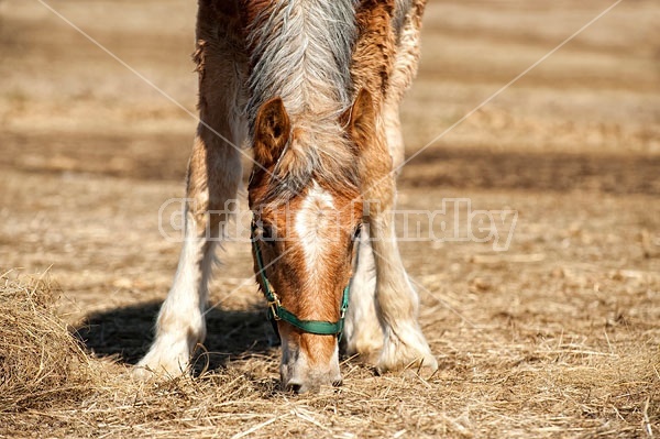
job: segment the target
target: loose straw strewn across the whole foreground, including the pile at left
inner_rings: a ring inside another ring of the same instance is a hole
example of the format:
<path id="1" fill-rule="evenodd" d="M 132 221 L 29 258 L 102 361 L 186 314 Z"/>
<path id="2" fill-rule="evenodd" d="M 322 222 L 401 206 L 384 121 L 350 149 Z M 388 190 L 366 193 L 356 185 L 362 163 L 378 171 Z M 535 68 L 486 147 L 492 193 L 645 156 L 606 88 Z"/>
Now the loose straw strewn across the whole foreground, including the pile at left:
<path id="1" fill-rule="evenodd" d="M 429 381 L 375 376 L 348 360 L 344 386 L 277 391 L 277 352 L 197 378 L 136 383 L 86 354 L 55 316 L 47 281 L 0 283 L 0 436 L 9 437 L 606 437 L 651 438 L 660 356 L 649 340 L 515 344 L 493 333 L 448 349 Z M 521 331 L 521 329 L 518 329 Z M 452 336 L 448 334 L 448 339 Z"/>

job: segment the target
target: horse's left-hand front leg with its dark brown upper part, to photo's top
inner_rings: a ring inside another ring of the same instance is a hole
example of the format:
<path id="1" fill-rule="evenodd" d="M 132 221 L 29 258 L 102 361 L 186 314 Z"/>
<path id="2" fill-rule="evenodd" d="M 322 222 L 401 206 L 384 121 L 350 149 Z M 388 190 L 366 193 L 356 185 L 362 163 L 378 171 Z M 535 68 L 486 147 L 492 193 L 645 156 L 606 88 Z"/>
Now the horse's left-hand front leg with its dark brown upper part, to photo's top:
<path id="1" fill-rule="evenodd" d="M 188 163 L 185 239 L 172 288 L 156 321 L 156 337 L 135 367 L 138 377 L 188 372 L 197 343 L 206 337 L 205 311 L 215 249 L 223 237 L 241 183 L 241 146 L 246 57 L 238 17 L 200 2 L 197 23 L 200 123 Z M 233 23 L 233 24 L 232 24 Z"/>

